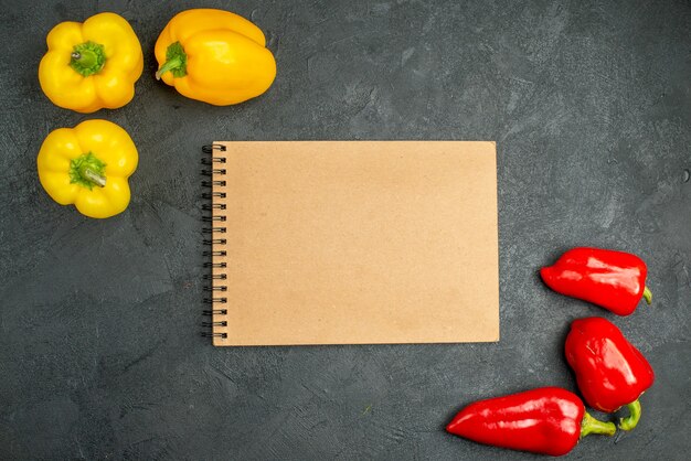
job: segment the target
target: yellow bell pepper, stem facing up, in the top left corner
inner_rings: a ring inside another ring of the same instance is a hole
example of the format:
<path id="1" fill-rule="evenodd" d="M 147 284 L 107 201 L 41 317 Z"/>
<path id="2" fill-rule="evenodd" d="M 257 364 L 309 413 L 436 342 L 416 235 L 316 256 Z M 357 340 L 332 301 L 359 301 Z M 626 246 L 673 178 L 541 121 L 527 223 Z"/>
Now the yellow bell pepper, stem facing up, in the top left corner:
<path id="1" fill-rule="evenodd" d="M 99 13 L 84 23 L 61 22 L 47 34 L 39 82 L 54 105 L 89 114 L 125 106 L 141 76 L 141 45 L 129 23 Z"/>

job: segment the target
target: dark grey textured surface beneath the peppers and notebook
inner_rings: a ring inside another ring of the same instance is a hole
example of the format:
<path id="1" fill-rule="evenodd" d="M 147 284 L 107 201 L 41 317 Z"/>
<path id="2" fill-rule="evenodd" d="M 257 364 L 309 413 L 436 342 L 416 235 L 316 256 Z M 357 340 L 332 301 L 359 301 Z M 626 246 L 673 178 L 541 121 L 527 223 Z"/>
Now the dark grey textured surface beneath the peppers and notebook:
<path id="1" fill-rule="evenodd" d="M 688 1 L 0 1 L 0 459 L 532 459 L 444 432 L 461 406 L 575 389 L 568 322 L 605 315 L 657 372 L 632 433 L 572 459 L 688 459 Z M 278 77 L 212 107 L 153 79 L 173 13 L 215 6 L 267 34 Z M 36 78 L 57 22 L 115 11 L 145 51 L 135 99 L 84 116 Z M 91 118 L 139 148 L 132 201 L 95 221 L 44 193 L 44 137 Z M 201 146 L 215 139 L 496 140 L 501 341 L 214 349 L 199 335 Z M 649 265 L 629 318 L 536 271 L 594 245 Z"/>

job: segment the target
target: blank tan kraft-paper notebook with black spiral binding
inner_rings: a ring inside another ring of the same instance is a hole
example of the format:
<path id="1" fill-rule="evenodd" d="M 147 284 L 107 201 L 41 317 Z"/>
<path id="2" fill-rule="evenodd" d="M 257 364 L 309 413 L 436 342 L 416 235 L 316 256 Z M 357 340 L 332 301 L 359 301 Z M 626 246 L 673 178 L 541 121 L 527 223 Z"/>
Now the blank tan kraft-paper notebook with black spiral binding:
<path id="1" fill-rule="evenodd" d="M 204 152 L 214 345 L 499 340 L 495 142 Z"/>

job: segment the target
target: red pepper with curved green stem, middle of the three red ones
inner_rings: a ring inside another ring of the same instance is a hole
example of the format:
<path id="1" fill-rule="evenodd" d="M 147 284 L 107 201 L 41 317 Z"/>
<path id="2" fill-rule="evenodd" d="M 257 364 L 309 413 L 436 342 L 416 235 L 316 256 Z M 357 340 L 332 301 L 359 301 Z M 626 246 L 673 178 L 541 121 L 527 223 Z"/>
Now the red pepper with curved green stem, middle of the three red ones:
<path id="1" fill-rule="evenodd" d="M 565 353 L 585 401 L 605 412 L 626 405 L 630 416 L 621 418 L 619 428 L 634 429 L 641 412 L 638 398 L 655 380 L 646 357 L 614 323 L 599 317 L 573 321 Z"/>

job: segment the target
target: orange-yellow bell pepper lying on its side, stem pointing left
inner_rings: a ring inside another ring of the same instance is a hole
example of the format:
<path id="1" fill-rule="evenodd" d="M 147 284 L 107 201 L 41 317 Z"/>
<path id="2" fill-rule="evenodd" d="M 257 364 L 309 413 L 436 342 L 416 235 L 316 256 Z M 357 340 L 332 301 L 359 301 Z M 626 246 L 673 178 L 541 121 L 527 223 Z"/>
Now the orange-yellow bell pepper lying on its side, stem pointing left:
<path id="1" fill-rule="evenodd" d="M 230 11 L 178 13 L 156 42 L 156 78 L 183 96 L 215 106 L 259 96 L 276 77 L 276 61 L 259 28 Z"/>

